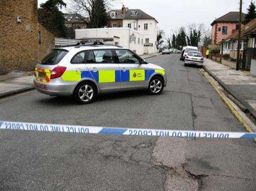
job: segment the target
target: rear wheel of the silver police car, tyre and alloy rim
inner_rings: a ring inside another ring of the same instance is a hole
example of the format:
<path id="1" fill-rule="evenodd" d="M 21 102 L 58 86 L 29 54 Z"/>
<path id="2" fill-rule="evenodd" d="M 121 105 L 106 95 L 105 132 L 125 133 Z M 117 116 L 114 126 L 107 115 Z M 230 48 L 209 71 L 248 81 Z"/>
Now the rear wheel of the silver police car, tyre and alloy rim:
<path id="1" fill-rule="evenodd" d="M 92 82 L 81 82 L 79 85 L 76 86 L 73 96 L 79 103 L 91 103 L 97 96 L 96 86 Z"/>

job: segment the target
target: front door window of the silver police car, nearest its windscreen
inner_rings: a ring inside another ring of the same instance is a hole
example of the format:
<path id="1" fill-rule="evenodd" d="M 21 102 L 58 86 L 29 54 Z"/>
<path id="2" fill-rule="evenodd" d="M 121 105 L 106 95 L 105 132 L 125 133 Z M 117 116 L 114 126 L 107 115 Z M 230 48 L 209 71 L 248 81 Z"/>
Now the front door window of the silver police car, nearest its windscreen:
<path id="1" fill-rule="evenodd" d="M 115 50 L 120 64 L 140 64 L 139 59 L 126 49 Z"/>

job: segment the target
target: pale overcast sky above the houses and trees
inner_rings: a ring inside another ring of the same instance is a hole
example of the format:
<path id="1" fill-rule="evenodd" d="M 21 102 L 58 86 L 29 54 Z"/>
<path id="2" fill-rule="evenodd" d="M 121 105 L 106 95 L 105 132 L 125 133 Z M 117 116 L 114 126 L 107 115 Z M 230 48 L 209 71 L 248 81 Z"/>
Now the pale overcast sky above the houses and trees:
<path id="1" fill-rule="evenodd" d="M 69 0 L 63 0 L 69 2 Z M 253 0 L 254 1 L 254 0 Z M 46 0 L 38 0 L 40 3 Z M 113 9 L 121 9 L 122 5 L 129 9 L 141 9 L 158 20 L 160 29 L 167 35 L 180 26 L 188 23 L 210 23 L 229 11 L 239 11 L 238 0 L 117 0 Z M 243 0 L 243 13 L 247 13 L 251 0 Z M 63 10 L 65 12 L 65 10 Z"/>

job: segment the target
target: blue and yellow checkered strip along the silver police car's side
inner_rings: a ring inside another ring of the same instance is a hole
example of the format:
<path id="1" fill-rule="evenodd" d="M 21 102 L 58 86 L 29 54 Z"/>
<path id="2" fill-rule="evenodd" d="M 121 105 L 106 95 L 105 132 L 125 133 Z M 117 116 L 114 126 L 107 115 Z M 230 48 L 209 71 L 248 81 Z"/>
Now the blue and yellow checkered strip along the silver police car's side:
<path id="1" fill-rule="evenodd" d="M 63 81 L 79 81 L 82 78 L 92 78 L 98 83 L 147 81 L 153 73 L 164 76 L 166 72 L 164 69 L 99 70 L 97 72 L 66 71 L 61 79 Z"/>

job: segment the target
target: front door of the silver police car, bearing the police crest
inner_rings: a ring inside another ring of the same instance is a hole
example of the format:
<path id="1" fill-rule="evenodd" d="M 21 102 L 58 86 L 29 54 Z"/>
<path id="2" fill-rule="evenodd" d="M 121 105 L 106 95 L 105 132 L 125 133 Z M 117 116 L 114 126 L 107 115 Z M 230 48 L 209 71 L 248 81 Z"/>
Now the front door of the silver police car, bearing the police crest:
<path id="1" fill-rule="evenodd" d="M 121 89 L 146 88 L 146 64 L 141 64 L 139 57 L 127 49 L 116 49 L 115 53 L 121 70 Z"/>

